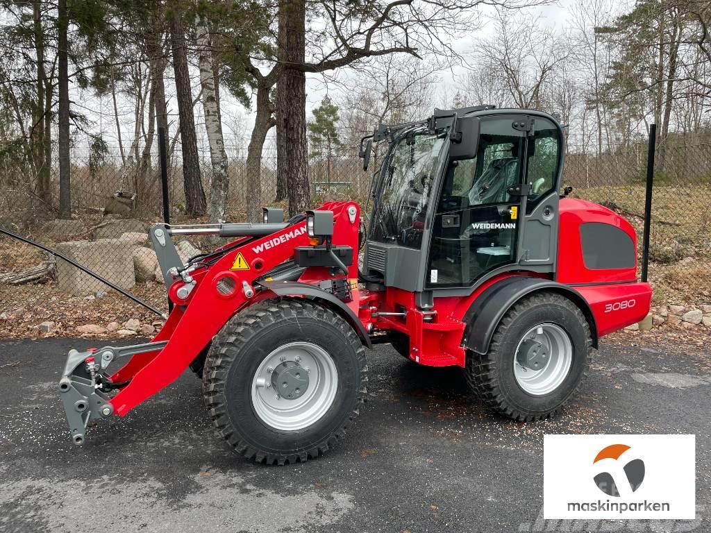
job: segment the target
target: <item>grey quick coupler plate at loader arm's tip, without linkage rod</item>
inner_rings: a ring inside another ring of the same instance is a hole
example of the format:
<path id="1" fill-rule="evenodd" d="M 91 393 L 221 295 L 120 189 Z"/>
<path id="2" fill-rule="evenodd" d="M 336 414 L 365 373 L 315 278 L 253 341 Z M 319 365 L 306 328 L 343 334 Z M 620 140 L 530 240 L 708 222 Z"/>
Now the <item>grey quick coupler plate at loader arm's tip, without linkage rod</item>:
<path id="1" fill-rule="evenodd" d="M 106 418 L 114 412 L 109 398 L 102 390 L 100 365 L 94 353 L 95 350 L 69 350 L 59 381 L 69 431 L 75 444 L 84 443 L 90 420 Z"/>

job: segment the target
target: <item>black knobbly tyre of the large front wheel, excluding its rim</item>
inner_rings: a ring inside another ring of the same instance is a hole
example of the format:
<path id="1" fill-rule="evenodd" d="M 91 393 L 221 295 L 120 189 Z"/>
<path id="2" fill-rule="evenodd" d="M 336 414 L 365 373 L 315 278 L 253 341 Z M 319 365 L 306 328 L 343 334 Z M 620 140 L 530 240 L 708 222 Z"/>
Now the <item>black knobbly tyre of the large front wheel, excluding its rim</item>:
<path id="1" fill-rule="evenodd" d="M 252 404 L 252 379 L 273 350 L 308 341 L 324 348 L 338 371 L 336 396 L 314 424 L 281 431 L 265 424 Z M 283 465 L 316 458 L 346 435 L 365 401 L 365 349 L 341 316 L 302 298 L 272 300 L 233 317 L 213 339 L 203 394 L 218 433 L 257 463 Z"/>

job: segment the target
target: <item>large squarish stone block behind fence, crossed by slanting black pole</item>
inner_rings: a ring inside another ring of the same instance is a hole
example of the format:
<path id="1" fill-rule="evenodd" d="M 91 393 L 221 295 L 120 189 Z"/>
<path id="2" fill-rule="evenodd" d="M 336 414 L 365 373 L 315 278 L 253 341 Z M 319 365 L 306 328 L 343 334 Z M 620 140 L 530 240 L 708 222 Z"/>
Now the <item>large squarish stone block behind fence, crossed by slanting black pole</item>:
<path id="1" fill-rule="evenodd" d="M 121 289 L 132 289 L 136 284 L 132 248 L 127 247 L 126 241 L 102 239 L 62 242 L 57 245 L 57 250 Z M 63 259 L 57 259 L 57 284 L 60 291 L 75 296 L 87 296 L 109 289 L 98 279 L 80 271 Z"/>

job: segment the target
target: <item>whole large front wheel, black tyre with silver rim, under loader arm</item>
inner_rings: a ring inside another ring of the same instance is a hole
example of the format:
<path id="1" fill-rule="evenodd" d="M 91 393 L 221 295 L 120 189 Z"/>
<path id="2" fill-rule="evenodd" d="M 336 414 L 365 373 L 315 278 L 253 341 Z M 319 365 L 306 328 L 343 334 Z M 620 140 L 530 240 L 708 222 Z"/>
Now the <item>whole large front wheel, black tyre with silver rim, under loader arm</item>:
<path id="1" fill-rule="evenodd" d="M 220 330 L 205 361 L 203 394 L 215 428 L 237 453 L 283 465 L 316 458 L 346 435 L 365 401 L 367 372 L 363 344 L 341 316 L 301 298 L 272 300 Z M 277 395 L 287 381 L 291 388 Z"/>

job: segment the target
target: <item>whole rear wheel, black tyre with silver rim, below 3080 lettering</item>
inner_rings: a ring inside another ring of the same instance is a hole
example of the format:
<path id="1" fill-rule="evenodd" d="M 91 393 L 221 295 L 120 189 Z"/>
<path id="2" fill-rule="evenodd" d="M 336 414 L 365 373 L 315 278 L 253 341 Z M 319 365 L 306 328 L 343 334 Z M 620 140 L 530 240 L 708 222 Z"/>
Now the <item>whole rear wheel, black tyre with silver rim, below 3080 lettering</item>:
<path id="1" fill-rule="evenodd" d="M 547 359 L 541 366 L 536 362 L 540 370 L 518 358 L 528 338 L 545 346 Z M 541 292 L 521 299 L 503 316 L 486 355 L 469 352 L 466 380 L 500 414 L 522 422 L 545 419 L 582 386 L 591 349 L 582 311 L 565 296 Z"/>

